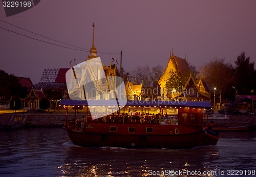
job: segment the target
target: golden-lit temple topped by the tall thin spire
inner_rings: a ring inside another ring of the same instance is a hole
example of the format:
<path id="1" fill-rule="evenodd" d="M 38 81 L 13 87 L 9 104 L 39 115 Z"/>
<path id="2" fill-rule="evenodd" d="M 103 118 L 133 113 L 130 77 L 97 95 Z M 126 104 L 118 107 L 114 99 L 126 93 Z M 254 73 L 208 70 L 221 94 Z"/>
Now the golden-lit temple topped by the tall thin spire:
<path id="1" fill-rule="evenodd" d="M 115 98 L 115 93 L 110 91 L 116 86 L 116 79 L 113 76 L 116 76 L 117 64 L 113 63 L 114 58 L 109 67 L 101 63 L 94 44 L 95 25 L 93 24 L 92 27 L 93 40 L 90 55 L 85 60 L 86 62 L 76 64 L 74 67 L 71 65 L 73 73 L 71 70 L 70 81 L 74 83 L 68 86 L 70 99 L 109 100 Z"/>

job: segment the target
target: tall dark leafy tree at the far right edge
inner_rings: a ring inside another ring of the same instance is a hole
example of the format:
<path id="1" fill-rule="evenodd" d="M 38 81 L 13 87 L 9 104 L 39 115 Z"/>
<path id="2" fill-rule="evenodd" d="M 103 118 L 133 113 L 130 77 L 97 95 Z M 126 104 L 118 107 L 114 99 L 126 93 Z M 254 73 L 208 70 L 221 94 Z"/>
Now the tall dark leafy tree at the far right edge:
<path id="1" fill-rule="evenodd" d="M 238 94 L 251 95 L 256 86 L 254 62 L 250 62 L 250 57 L 245 57 L 245 52 L 241 52 L 234 63 Z"/>

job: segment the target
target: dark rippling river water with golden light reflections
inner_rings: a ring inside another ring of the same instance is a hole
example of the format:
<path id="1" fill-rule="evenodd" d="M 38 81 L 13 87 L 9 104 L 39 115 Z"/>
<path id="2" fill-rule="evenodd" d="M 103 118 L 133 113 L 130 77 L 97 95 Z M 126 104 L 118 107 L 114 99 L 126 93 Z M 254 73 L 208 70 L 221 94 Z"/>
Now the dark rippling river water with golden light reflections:
<path id="1" fill-rule="evenodd" d="M 192 149 L 85 148 L 61 128 L 0 131 L 0 176 L 256 176 L 256 131 Z"/>

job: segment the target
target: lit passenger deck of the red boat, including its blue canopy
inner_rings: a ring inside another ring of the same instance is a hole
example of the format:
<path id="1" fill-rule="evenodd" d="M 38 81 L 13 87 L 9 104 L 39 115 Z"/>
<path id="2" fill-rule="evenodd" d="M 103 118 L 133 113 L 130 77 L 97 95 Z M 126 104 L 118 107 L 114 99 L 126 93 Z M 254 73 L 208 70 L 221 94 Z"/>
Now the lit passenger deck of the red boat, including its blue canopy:
<path id="1" fill-rule="evenodd" d="M 108 103 L 105 104 L 105 103 Z M 86 100 L 61 100 L 60 104 L 68 109 L 83 106 L 76 116 L 83 122 L 99 123 L 152 123 L 161 125 L 202 125 L 203 109 L 210 107 L 209 102 L 187 101 L 139 101 L 129 100 L 122 108 L 108 102 L 97 101 L 88 105 Z M 80 111 L 81 112 L 81 111 Z"/>

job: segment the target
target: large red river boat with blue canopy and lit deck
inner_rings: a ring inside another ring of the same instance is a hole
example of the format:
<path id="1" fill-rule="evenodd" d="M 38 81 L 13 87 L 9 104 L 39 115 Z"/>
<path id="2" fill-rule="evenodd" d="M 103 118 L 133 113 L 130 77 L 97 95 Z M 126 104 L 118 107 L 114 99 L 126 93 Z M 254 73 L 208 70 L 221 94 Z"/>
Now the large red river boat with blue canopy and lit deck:
<path id="1" fill-rule="evenodd" d="M 61 100 L 60 105 L 67 109 L 63 129 L 74 144 L 83 147 L 193 148 L 201 144 L 215 145 L 218 141 L 218 134 L 213 130 L 214 141 L 207 139 L 208 127 L 203 128 L 203 109 L 210 107 L 209 102 L 128 100 L 112 114 L 109 110 L 116 107 L 106 106 L 106 103 L 91 100 L 89 105 L 87 100 Z M 83 106 L 84 113 L 80 110 L 80 117 L 75 114 L 68 119 L 69 109 L 75 108 L 76 113 L 77 106 Z M 130 114 L 135 111 L 137 115 Z"/>

